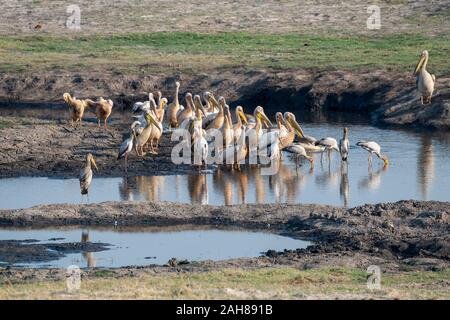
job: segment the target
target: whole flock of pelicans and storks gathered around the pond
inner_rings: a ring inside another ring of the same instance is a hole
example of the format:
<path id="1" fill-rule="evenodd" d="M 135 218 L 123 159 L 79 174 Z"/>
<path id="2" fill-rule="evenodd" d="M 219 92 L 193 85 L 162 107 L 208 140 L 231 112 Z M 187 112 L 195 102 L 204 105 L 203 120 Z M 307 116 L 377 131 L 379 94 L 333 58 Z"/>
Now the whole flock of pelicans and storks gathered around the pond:
<path id="1" fill-rule="evenodd" d="M 424 50 L 414 69 L 417 91 L 422 104 L 431 103 L 436 82 L 436 77 L 427 71 L 428 60 L 429 53 Z M 314 153 L 320 153 L 321 160 L 323 154 L 327 153 L 329 164 L 332 152 L 339 153 L 343 163 L 349 158 L 348 127 L 343 128 L 343 136 L 339 143 L 334 137 L 316 139 L 305 134 L 293 112 L 276 112 L 273 125 L 262 106 L 256 106 L 253 112 L 245 110 L 241 105 L 233 109 L 227 104 L 225 97 L 219 96 L 216 99 L 210 91 L 195 95 L 186 92 L 182 105 L 179 99 L 181 84 L 179 81 L 174 84 L 175 92 L 170 103 L 161 91 L 157 91 L 156 95 L 148 93 L 148 100 L 133 104 L 129 134 L 118 146 L 117 160 L 124 159 L 125 172 L 128 168 L 128 158 L 133 151 L 141 158 L 147 153 L 156 156 L 164 132 L 179 129 L 189 132 L 190 141 L 185 145 L 194 152 L 192 159 L 198 160 L 196 164 L 199 168 L 203 165 L 207 167 L 210 154 L 214 155 L 215 160 L 220 159 L 220 162 L 216 163 L 218 168 L 231 170 L 240 170 L 242 164 L 260 166 L 261 163 L 258 161 L 262 155 L 271 161 L 279 161 L 283 152 L 290 154 L 295 160 L 296 170 L 302 160 L 308 161 L 311 169 L 314 168 Z M 85 111 L 92 108 L 98 126 L 103 122 L 104 127 L 107 127 L 114 106 L 111 99 L 103 97 L 97 100 L 77 99 L 66 92 L 63 94 L 63 100 L 69 106 L 71 126 L 81 125 Z M 214 130 L 222 136 L 219 144 L 215 143 Z M 384 168 L 388 166 L 388 157 L 381 153 L 379 143 L 360 140 L 356 146 L 368 152 L 370 166 L 373 155 L 383 161 Z M 256 163 L 250 161 L 255 159 Z M 88 153 L 79 177 L 82 195 L 89 192 L 93 177 L 92 166 L 97 169 L 93 155 Z"/>

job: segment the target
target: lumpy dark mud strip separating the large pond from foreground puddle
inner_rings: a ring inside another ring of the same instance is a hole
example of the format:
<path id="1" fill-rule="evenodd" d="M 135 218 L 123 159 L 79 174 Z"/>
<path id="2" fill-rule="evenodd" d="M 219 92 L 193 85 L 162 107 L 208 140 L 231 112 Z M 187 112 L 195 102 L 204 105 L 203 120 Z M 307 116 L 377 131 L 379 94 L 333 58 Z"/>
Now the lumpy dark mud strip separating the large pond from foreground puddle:
<path id="1" fill-rule="evenodd" d="M 319 266 L 337 259 L 349 265 L 380 260 L 388 265 L 441 268 L 450 266 L 449 214 L 450 203 L 436 201 L 400 201 L 352 209 L 286 204 L 197 206 L 168 202 L 105 202 L 0 210 L 0 226 L 112 226 L 116 223 L 118 226 L 240 226 L 314 242 L 307 249 L 269 251 L 262 258 L 237 259 L 244 266 L 293 263 Z M 232 261 L 223 262 L 224 265 L 227 263 Z M 212 263 L 212 266 L 220 265 L 220 262 Z M 189 263 L 183 268 L 195 266 L 204 265 Z M 179 265 L 172 263 L 168 267 Z"/>

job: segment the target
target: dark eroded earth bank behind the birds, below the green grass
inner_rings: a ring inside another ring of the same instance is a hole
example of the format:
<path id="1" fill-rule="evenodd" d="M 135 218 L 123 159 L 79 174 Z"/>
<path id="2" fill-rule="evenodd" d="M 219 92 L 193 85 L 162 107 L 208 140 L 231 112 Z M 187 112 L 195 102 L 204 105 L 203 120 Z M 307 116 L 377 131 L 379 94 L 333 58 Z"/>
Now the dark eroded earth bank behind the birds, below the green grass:
<path id="1" fill-rule="evenodd" d="M 436 75 L 431 105 L 416 97 L 411 73 L 336 70 L 220 70 L 204 74 L 123 75 L 95 73 L 44 73 L 0 75 L 0 107 L 39 107 L 61 103 L 69 91 L 77 97 L 108 96 L 116 110 L 127 110 L 149 91 L 161 90 L 171 100 L 174 82 L 181 94 L 205 90 L 228 98 L 231 106 L 256 105 L 269 112 L 335 110 L 366 114 L 376 124 L 450 129 L 450 76 Z"/>

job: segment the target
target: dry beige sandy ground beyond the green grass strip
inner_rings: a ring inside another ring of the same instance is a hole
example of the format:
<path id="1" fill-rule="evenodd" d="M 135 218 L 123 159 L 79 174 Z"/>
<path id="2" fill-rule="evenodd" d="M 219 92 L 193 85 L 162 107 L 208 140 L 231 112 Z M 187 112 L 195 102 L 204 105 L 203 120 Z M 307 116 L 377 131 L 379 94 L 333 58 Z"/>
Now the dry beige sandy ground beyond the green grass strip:
<path id="1" fill-rule="evenodd" d="M 78 3 L 78 2 L 77 2 Z M 73 1 L 4 0 L 0 33 L 74 33 L 66 28 Z M 378 5 L 381 29 L 367 29 L 369 5 Z M 83 1 L 77 33 L 130 31 L 248 31 L 380 35 L 397 32 L 435 34 L 449 30 L 448 1 Z M 107 13 L 107 14 L 105 14 Z M 36 26 L 38 26 L 36 28 Z"/>

